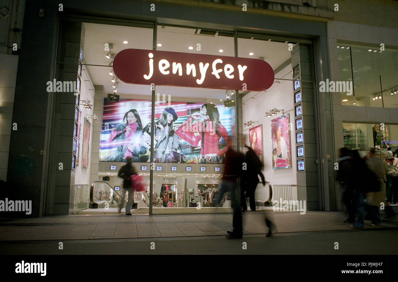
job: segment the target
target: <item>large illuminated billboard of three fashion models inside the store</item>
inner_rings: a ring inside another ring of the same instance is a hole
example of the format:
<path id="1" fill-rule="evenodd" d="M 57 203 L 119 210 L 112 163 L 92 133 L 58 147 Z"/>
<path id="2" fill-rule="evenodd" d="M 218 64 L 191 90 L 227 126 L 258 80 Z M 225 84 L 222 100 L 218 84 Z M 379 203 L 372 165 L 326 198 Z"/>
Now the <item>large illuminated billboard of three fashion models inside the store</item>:
<path id="1" fill-rule="evenodd" d="M 151 129 L 151 101 L 104 99 L 100 161 L 222 163 L 231 145 L 231 108 L 224 104 L 170 102 L 155 107 Z M 154 132 L 154 149 L 150 136 Z"/>

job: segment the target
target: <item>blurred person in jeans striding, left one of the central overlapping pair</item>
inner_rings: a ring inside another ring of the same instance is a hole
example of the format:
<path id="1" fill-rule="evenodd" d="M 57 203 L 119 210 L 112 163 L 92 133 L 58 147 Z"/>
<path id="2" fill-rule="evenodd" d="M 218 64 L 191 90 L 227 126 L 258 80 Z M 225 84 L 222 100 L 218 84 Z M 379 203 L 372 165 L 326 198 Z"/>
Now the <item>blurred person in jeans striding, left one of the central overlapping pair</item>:
<path id="1" fill-rule="evenodd" d="M 230 239 L 242 238 L 242 214 L 240 213 L 240 203 L 236 199 L 236 180 L 243 174 L 242 168 L 244 162 L 245 156 L 228 146 L 228 151 L 225 153 L 224 173 L 222 175 L 220 190 L 217 193 L 216 206 L 219 207 L 224 194 L 230 192 L 231 207 L 234 211 L 232 220 L 233 229 L 228 230 Z"/>

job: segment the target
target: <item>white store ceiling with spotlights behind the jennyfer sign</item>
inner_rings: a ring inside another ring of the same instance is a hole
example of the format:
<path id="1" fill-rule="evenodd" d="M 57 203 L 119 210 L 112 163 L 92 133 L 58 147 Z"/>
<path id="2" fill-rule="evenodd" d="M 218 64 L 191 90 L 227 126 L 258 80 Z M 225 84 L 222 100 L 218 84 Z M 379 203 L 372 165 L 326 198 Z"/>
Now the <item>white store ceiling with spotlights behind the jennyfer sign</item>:
<path id="1" fill-rule="evenodd" d="M 113 25 L 100 25 L 84 23 L 85 39 L 83 57 L 86 64 L 99 65 L 87 66 L 93 78 L 93 83 L 103 85 L 105 97 L 107 93 L 113 93 L 111 75 L 108 67 L 111 62 L 106 58 L 107 51 L 104 50 L 105 43 L 113 44 L 113 53 L 117 54 L 127 48 L 152 50 L 152 29 L 139 27 L 121 27 Z M 162 46 L 157 50 L 173 52 L 192 52 L 201 54 L 222 54 L 222 56 L 234 56 L 233 37 L 208 36 L 195 34 L 196 29 L 181 27 L 158 26 L 157 42 Z M 127 40 L 127 44 L 123 41 Z M 197 43 L 201 44 L 201 51 L 196 50 Z M 194 47 L 189 50 L 188 47 Z M 219 50 L 224 52 L 220 53 Z M 250 56 L 249 52 L 254 55 Z M 286 43 L 270 42 L 263 40 L 238 39 L 238 56 L 244 58 L 263 57 L 265 61 L 275 70 L 291 56 Z M 121 98 L 133 98 L 133 95 L 147 96 L 150 99 L 152 93 L 148 85 L 132 85 L 119 82 L 117 94 Z M 156 92 L 172 97 L 197 98 L 201 100 L 225 99 L 225 91 L 219 89 L 202 89 L 193 87 L 165 87 L 157 86 Z M 172 99 L 173 100 L 173 99 Z M 176 99 L 179 100 L 179 99 Z M 198 100 L 199 102 L 199 100 Z"/>

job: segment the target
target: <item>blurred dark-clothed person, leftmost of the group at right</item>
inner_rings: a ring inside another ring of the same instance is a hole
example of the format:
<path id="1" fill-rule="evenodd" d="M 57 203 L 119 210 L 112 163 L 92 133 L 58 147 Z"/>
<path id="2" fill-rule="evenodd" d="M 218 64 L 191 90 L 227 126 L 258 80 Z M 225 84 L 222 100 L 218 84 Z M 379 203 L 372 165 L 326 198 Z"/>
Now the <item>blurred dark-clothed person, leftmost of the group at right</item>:
<path id="1" fill-rule="evenodd" d="M 339 169 L 337 180 L 340 183 L 342 201 L 347 211 L 347 219 L 344 222 L 355 222 L 355 195 L 353 178 L 353 161 L 351 156 L 348 155 L 349 150 L 345 147 L 340 149 Z"/>

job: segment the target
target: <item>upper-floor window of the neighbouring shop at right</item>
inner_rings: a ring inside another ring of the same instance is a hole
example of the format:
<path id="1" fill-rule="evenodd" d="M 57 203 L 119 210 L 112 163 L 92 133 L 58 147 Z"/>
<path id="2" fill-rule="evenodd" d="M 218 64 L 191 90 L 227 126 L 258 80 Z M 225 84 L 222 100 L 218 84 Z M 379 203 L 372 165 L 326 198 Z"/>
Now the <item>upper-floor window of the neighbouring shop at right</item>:
<path id="1" fill-rule="evenodd" d="M 351 95 L 335 93 L 341 95 L 342 105 L 398 108 L 397 50 L 343 43 L 337 48 L 339 79 L 353 81 Z"/>

